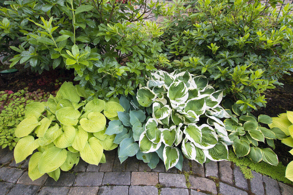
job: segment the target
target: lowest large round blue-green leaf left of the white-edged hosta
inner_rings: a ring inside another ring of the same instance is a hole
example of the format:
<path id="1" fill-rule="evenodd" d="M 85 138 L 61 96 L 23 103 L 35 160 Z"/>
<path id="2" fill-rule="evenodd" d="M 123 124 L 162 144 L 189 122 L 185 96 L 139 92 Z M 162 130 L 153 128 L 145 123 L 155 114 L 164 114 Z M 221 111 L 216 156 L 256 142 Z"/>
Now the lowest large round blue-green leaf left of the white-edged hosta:
<path id="1" fill-rule="evenodd" d="M 120 143 L 119 157 L 134 156 L 139 151 L 139 145 L 132 138 L 125 138 Z"/>

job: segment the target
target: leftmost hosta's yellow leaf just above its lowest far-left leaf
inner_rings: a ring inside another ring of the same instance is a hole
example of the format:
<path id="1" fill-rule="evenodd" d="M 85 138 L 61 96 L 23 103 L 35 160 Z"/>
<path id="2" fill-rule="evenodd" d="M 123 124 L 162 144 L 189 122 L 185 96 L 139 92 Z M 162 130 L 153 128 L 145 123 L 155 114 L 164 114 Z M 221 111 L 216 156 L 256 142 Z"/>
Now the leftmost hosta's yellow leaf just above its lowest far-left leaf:
<path id="1" fill-rule="evenodd" d="M 15 136 L 16 137 L 25 137 L 29 135 L 35 127 L 40 125 L 41 123 L 35 116 L 31 116 L 29 118 L 23 119 L 15 129 Z"/>

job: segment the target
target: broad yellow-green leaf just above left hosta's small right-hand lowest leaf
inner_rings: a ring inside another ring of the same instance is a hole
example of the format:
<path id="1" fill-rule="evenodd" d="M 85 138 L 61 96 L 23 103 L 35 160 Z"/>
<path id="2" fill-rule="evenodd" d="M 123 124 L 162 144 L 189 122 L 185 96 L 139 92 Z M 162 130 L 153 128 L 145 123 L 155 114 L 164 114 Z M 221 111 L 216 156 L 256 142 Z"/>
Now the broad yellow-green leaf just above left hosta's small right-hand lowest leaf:
<path id="1" fill-rule="evenodd" d="M 42 153 L 39 161 L 40 173 L 48 173 L 58 169 L 66 160 L 67 151 L 53 146 Z"/>

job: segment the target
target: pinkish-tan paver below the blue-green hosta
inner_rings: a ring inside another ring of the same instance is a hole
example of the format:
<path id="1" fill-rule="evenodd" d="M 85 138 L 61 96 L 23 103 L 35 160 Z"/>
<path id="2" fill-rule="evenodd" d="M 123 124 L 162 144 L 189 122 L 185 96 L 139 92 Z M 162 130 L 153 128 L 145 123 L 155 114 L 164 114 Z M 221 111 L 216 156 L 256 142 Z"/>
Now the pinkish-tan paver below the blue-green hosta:
<path id="1" fill-rule="evenodd" d="M 156 172 L 132 172 L 131 185 L 155 186 L 158 183 L 158 173 Z"/>

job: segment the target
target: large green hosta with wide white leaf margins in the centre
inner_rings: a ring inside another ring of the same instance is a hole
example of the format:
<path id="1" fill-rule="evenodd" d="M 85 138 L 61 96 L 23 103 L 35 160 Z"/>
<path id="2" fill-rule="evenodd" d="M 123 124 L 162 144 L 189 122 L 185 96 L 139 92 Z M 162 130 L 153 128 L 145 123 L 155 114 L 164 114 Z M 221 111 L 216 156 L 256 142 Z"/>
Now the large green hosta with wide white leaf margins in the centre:
<path id="1" fill-rule="evenodd" d="M 231 141 L 220 118 L 230 115 L 219 106 L 222 91 L 208 85 L 206 77 L 188 71 L 169 74 L 159 70 L 148 79 L 147 87 L 137 92 L 139 104 L 150 106 L 152 111 L 139 137 L 140 151 L 156 151 L 167 170 L 182 163 L 183 156 L 176 147 L 181 143 L 183 154 L 201 164 L 207 159 L 227 159 Z"/>

